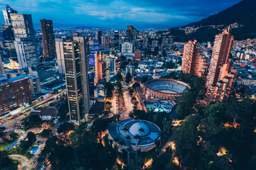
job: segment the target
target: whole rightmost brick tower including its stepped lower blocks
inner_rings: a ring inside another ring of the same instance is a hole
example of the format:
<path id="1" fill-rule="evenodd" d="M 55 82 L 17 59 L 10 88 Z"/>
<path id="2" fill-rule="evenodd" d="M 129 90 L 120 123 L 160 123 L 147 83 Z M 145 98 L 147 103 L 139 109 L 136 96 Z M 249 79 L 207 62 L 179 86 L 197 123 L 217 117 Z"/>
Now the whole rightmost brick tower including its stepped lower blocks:
<path id="1" fill-rule="evenodd" d="M 210 60 L 210 68 L 206 79 L 206 101 L 227 101 L 233 91 L 237 69 L 228 59 L 233 36 L 230 28 L 215 36 L 213 55 Z"/>

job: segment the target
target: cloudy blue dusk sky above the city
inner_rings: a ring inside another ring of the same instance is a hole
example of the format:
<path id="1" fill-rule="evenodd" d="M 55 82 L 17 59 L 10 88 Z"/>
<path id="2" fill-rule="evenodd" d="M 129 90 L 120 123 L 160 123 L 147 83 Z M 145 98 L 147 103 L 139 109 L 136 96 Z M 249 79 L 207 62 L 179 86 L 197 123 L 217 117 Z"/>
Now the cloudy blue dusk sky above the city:
<path id="1" fill-rule="evenodd" d="M 241 0 L 0 0 L 1 9 L 9 4 L 18 13 L 74 26 L 108 28 L 171 28 L 199 21 Z M 0 15 L 1 23 L 4 16 Z"/>

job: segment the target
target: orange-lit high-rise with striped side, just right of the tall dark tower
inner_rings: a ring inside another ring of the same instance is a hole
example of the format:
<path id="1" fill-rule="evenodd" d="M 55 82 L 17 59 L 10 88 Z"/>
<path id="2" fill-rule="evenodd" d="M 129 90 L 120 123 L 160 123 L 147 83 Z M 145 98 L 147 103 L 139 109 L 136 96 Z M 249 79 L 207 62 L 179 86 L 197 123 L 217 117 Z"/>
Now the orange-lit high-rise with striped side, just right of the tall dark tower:
<path id="1" fill-rule="evenodd" d="M 110 81 L 110 52 L 95 52 L 95 85 L 103 80 L 104 83 Z"/>

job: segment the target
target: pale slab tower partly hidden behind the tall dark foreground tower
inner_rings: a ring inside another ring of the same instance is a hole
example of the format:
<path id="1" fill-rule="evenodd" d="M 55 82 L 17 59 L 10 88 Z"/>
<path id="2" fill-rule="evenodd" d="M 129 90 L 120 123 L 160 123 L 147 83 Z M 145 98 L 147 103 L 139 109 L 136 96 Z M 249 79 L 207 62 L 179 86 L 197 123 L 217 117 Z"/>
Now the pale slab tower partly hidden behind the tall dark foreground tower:
<path id="1" fill-rule="evenodd" d="M 63 51 L 63 42 L 71 40 L 70 38 L 55 38 L 55 49 L 58 62 L 58 72 L 60 74 L 65 74 L 65 60 Z"/>

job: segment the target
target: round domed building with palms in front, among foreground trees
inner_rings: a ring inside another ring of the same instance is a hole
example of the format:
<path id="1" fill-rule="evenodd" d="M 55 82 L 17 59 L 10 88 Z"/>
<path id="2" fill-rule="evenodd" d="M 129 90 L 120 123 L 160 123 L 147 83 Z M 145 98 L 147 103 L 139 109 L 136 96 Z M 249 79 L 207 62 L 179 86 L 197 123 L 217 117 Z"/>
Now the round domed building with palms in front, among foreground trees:
<path id="1" fill-rule="evenodd" d="M 133 150 L 147 152 L 153 149 L 155 141 L 159 140 L 160 128 L 147 120 L 128 119 L 121 123 L 111 123 L 109 138 L 114 145 L 122 148 L 132 147 Z M 123 143 L 121 146 L 120 143 Z"/>

